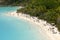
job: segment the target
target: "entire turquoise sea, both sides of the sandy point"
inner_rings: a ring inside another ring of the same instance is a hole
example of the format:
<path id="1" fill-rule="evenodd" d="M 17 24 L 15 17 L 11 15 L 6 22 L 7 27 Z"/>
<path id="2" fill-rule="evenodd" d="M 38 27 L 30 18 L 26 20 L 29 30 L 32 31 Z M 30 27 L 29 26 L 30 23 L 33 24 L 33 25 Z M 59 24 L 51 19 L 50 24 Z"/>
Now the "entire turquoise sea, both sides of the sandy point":
<path id="1" fill-rule="evenodd" d="M 17 9 L 17 7 L 0 7 L 0 40 L 45 40 L 46 38 L 30 23 L 1 15 Z"/>

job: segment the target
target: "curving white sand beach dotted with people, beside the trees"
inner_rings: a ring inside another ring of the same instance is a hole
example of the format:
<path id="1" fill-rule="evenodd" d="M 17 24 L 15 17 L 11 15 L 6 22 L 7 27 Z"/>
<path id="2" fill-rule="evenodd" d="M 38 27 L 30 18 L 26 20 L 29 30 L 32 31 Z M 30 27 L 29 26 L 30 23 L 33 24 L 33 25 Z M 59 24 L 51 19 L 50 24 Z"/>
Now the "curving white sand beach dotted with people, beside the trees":
<path id="1" fill-rule="evenodd" d="M 37 19 L 36 17 L 31 17 L 26 14 L 19 13 L 19 15 L 14 12 L 10 12 L 5 14 L 6 16 L 13 16 L 17 17 L 19 19 L 24 19 L 29 21 L 30 23 L 36 24 L 39 26 L 39 29 L 42 30 L 42 32 L 47 36 L 49 40 L 60 40 L 60 34 L 55 26 L 52 26 L 51 24 L 47 23 L 44 20 Z"/>

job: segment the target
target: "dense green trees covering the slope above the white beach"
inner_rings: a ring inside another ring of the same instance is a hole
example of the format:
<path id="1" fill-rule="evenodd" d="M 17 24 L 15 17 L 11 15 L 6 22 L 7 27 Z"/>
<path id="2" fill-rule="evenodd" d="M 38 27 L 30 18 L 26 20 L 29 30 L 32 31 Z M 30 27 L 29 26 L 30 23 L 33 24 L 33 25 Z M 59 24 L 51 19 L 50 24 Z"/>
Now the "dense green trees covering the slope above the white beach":
<path id="1" fill-rule="evenodd" d="M 18 9 L 18 13 L 22 12 L 54 23 L 60 31 L 60 0 L 22 0 L 22 4 L 25 8 Z"/>

